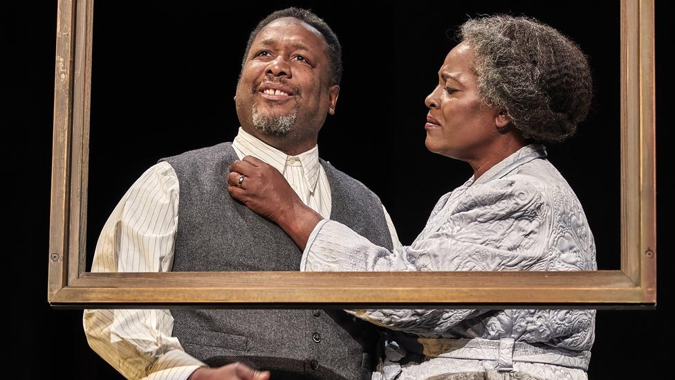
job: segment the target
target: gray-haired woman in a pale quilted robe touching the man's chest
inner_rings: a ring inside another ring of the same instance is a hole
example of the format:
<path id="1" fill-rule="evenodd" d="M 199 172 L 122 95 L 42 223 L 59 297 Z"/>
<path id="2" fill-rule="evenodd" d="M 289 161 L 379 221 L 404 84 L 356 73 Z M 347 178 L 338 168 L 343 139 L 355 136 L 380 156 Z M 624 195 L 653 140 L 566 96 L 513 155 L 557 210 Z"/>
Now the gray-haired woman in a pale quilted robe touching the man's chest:
<path id="1" fill-rule="evenodd" d="M 472 19 L 426 98 L 425 144 L 474 176 L 438 201 L 411 246 L 375 246 L 304 206 L 283 177 L 247 157 L 228 190 L 279 224 L 306 271 L 589 271 L 595 244 L 542 142 L 575 132 L 591 99 L 586 57 L 522 17 Z M 414 178 L 410 181 L 415 181 Z M 592 310 L 369 310 L 391 334 L 387 379 L 586 379 Z M 388 339 L 389 340 L 389 339 Z"/>

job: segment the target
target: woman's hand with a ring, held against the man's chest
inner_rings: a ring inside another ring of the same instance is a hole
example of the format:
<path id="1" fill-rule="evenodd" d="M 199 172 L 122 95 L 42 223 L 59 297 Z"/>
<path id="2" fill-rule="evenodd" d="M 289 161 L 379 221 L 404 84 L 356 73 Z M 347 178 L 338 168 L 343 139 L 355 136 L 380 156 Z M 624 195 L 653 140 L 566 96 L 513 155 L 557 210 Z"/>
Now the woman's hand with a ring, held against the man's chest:
<path id="1" fill-rule="evenodd" d="M 321 215 L 305 206 L 279 170 L 246 156 L 230 165 L 228 192 L 257 214 L 283 229 L 301 250 Z"/>

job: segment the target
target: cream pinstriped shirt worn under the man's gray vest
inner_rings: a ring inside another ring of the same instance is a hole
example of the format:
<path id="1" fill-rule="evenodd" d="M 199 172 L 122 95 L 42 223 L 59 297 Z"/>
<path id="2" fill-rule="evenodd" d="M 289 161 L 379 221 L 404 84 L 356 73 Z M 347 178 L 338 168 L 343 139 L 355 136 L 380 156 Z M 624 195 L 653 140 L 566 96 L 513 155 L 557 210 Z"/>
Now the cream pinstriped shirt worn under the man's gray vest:
<path id="1" fill-rule="evenodd" d="M 239 128 L 232 147 L 239 159 L 255 156 L 272 165 L 307 206 L 330 217 L 331 188 L 317 146 L 288 156 Z M 384 211 L 391 240 L 400 245 Z M 176 226 L 178 178 L 169 163 L 161 162 L 143 173 L 113 210 L 96 244 L 91 271 L 171 271 Z M 172 336 L 169 310 L 85 310 L 83 323 L 91 348 L 129 379 L 187 379 L 205 366 Z"/>

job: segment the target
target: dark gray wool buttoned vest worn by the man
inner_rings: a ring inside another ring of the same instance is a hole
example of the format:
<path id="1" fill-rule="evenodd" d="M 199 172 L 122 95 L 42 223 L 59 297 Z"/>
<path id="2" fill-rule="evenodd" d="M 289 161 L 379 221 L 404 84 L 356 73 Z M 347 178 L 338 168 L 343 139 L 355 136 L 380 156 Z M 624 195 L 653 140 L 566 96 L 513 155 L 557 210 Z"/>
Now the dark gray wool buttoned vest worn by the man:
<path id="1" fill-rule="evenodd" d="M 231 143 L 169 157 L 178 176 L 173 271 L 298 271 L 302 252 L 277 225 L 230 197 Z M 321 161 L 331 219 L 391 250 L 382 203 L 362 183 Z M 370 378 L 378 332 L 342 310 L 174 309 L 174 336 L 212 367 L 241 361 L 272 379 Z"/>

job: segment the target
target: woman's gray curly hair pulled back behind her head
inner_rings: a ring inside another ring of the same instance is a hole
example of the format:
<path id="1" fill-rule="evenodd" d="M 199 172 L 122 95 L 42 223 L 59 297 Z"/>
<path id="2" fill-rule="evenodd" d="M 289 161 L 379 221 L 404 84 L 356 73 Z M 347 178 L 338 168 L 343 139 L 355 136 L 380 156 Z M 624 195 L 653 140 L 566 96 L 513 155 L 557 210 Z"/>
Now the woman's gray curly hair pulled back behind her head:
<path id="1" fill-rule="evenodd" d="M 586 56 L 551 26 L 505 15 L 470 19 L 459 37 L 474 50 L 478 89 L 536 141 L 562 141 L 586 118 L 593 93 Z"/>

